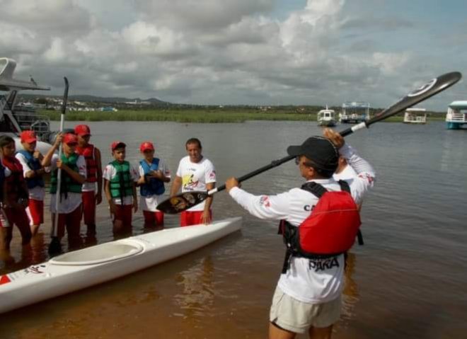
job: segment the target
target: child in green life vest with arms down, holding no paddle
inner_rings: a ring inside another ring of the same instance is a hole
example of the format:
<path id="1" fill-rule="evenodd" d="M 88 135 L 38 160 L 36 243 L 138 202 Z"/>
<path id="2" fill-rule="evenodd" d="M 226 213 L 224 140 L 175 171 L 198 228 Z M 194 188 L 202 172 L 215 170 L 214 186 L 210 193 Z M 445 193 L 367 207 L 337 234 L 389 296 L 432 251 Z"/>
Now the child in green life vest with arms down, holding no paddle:
<path id="1" fill-rule="evenodd" d="M 113 215 L 113 234 L 126 235 L 132 231 L 132 209 L 138 210 L 136 182 L 137 171 L 125 161 L 126 144 L 113 142 L 110 145 L 115 159 L 105 166 L 104 191 Z"/>

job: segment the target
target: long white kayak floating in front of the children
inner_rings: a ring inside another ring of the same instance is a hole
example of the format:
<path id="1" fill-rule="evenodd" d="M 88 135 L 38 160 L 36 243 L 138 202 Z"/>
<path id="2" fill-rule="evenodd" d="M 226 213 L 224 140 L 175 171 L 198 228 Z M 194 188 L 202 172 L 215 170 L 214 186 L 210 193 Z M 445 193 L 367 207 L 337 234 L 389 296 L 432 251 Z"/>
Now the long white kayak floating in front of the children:
<path id="1" fill-rule="evenodd" d="M 100 284 L 195 251 L 241 228 L 241 217 L 83 248 L 0 276 L 0 313 Z"/>

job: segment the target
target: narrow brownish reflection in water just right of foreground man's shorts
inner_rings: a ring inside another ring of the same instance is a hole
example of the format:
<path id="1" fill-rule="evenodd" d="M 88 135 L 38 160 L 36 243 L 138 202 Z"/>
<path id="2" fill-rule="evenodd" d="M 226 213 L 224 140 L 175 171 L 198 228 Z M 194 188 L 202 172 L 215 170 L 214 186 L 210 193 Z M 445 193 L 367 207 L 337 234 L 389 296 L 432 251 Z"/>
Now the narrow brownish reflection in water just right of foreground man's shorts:
<path id="1" fill-rule="evenodd" d="M 340 326 L 347 326 L 347 321 L 354 317 L 354 309 L 359 301 L 357 282 L 353 280 L 357 255 L 348 252 L 345 260 L 345 285 L 342 291 L 342 314 L 340 317 Z"/>

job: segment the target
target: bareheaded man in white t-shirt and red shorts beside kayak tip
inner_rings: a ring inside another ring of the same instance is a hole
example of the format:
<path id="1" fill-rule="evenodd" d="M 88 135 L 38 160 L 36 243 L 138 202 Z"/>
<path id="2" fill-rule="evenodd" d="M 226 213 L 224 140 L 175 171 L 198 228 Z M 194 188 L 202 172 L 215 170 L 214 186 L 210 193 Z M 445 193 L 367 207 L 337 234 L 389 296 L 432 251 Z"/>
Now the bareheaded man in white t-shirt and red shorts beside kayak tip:
<path id="1" fill-rule="evenodd" d="M 216 171 L 209 159 L 202 156 L 199 139 L 188 139 L 185 143 L 188 156 L 180 160 L 177 173 L 171 187 L 171 197 L 178 193 L 202 191 L 208 192 L 216 187 Z M 201 204 L 195 205 L 180 214 L 180 226 L 210 224 L 212 221 L 212 195 Z"/>

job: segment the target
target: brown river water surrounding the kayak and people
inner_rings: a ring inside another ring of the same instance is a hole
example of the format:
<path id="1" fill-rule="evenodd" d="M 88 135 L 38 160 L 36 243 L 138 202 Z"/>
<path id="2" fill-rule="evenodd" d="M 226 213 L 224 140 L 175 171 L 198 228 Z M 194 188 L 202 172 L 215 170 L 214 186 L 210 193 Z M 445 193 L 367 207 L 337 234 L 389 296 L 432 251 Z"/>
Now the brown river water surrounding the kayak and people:
<path id="1" fill-rule="evenodd" d="M 289 144 L 321 134 L 316 122 L 89 125 L 105 163 L 114 139 L 127 143 L 127 159 L 134 163 L 139 143 L 149 139 L 173 172 L 185 155 L 185 140 L 198 137 L 204 156 L 216 166 L 219 185 L 282 158 Z M 442 122 L 388 122 L 347 142 L 371 162 L 378 178 L 362 209 L 365 245 L 350 253 L 333 338 L 467 338 L 467 131 L 446 130 Z M 271 194 L 300 183 L 292 162 L 243 188 Z M 225 192 L 215 195 L 214 219 L 238 215 L 241 231 L 199 251 L 0 315 L 0 338 L 266 338 L 284 247 L 275 222 L 250 217 Z M 11 253 L 0 257 L 0 274 L 48 259 L 46 216 L 31 248 L 22 249 L 14 232 Z M 141 212 L 133 224 L 133 234 L 145 231 Z M 177 216 L 166 216 L 166 227 L 177 225 Z M 96 241 L 112 240 L 103 202 Z"/>

